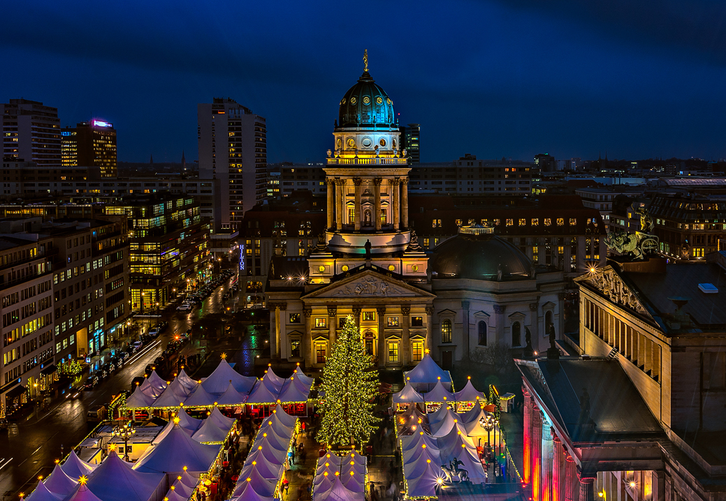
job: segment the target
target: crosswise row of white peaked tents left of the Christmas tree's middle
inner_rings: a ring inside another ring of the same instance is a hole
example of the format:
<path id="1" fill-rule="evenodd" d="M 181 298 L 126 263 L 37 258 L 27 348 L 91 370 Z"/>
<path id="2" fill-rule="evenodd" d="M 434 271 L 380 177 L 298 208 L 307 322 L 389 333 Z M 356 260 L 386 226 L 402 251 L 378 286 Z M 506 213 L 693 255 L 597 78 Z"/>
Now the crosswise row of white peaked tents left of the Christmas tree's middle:
<path id="1" fill-rule="evenodd" d="M 263 378 L 242 376 L 226 360 L 200 381 L 182 369 L 174 381 L 164 381 L 156 371 L 126 399 L 126 409 L 202 408 L 214 405 L 287 404 L 307 402 L 313 378 L 300 368 L 290 378 L 281 378 L 268 368 Z"/>

